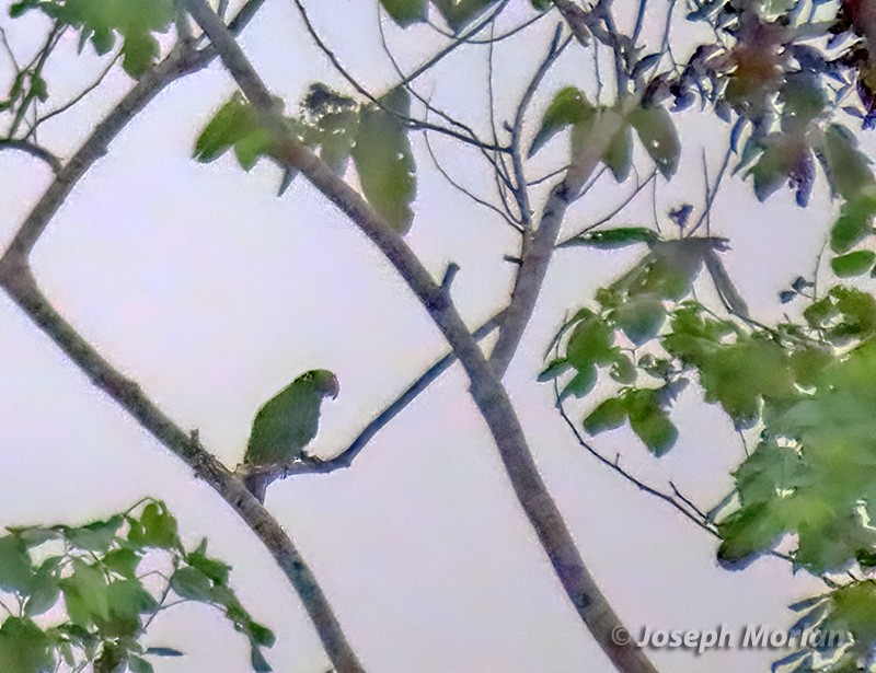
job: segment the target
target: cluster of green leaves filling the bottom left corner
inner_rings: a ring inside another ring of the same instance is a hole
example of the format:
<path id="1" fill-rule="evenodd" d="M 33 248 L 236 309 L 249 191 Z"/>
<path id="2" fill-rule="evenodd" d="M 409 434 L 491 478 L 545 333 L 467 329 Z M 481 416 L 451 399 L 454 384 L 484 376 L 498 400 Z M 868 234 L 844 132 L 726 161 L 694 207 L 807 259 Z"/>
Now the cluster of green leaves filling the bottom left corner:
<path id="1" fill-rule="evenodd" d="M 16 673 L 149 673 L 151 658 L 184 657 L 142 641 L 152 619 L 186 602 L 220 611 L 250 641 L 254 671 L 274 643 L 229 585 L 230 566 L 186 549 L 176 519 L 151 498 L 108 519 L 8 527 L 0 537 L 0 661 Z"/>

